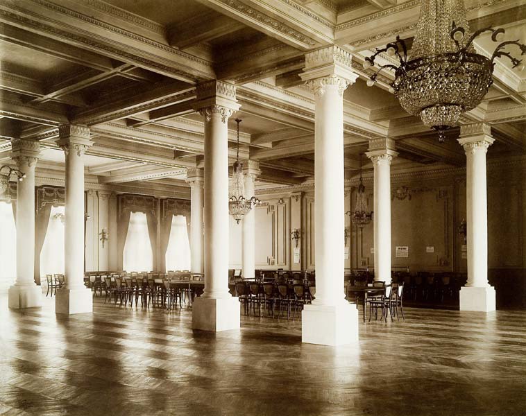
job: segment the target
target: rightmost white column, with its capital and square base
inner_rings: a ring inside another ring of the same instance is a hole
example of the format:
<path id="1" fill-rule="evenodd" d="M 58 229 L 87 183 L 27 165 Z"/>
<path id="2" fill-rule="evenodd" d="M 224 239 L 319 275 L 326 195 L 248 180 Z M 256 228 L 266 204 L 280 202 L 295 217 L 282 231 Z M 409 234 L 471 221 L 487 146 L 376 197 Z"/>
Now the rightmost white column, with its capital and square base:
<path id="1" fill-rule="evenodd" d="M 462 125 L 459 144 L 466 152 L 468 282 L 460 289 L 461 311 L 495 311 L 495 289 L 488 283 L 488 202 L 486 153 L 493 143 L 485 123 Z"/>

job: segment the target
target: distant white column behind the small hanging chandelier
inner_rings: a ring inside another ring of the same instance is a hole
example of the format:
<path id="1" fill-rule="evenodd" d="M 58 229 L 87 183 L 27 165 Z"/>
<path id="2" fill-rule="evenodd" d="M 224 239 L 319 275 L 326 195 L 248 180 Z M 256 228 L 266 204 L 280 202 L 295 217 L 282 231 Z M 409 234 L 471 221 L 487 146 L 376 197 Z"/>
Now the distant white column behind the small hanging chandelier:
<path id="1" fill-rule="evenodd" d="M 247 160 L 243 164 L 244 197 L 250 199 L 255 196 L 255 178 L 261 174 L 260 163 Z M 243 227 L 241 275 L 245 279 L 253 279 L 255 276 L 255 207 L 243 217 L 241 227 Z"/>

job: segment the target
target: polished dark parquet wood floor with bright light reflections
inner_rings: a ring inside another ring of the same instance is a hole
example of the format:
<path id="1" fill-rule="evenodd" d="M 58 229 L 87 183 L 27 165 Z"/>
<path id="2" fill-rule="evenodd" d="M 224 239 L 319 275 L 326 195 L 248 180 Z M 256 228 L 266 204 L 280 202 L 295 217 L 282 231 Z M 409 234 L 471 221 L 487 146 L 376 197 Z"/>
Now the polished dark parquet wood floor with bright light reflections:
<path id="1" fill-rule="evenodd" d="M 0 295 L 1 415 L 526 415 L 526 312 L 407 309 L 359 345 L 301 341 L 300 320 L 105 305 L 56 316 Z"/>

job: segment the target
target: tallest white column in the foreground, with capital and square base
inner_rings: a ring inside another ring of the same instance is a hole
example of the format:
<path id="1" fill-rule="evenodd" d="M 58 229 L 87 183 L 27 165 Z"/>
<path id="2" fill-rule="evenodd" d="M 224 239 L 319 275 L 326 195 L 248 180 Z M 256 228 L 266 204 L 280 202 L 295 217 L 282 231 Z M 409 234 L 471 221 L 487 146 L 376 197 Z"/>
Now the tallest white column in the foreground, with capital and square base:
<path id="1" fill-rule="evenodd" d="M 305 55 L 300 76 L 316 96 L 314 199 L 316 300 L 302 314 L 302 341 L 340 345 L 358 340 L 358 313 L 343 288 L 343 91 L 355 82 L 349 53 L 328 46 Z"/>

